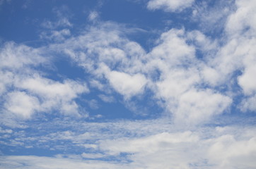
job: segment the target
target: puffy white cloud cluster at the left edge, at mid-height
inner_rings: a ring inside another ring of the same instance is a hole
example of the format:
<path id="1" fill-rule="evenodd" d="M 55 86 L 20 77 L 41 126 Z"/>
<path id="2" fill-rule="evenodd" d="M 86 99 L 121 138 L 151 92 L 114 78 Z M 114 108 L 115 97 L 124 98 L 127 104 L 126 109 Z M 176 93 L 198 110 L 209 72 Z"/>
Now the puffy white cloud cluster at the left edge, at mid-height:
<path id="1" fill-rule="evenodd" d="M 45 56 L 44 51 L 13 42 L 1 46 L 1 123 L 15 125 L 8 119 L 29 119 L 36 112 L 53 110 L 79 114 L 74 99 L 89 91 L 86 84 L 74 80 L 57 82 L 44 77 L 35 69 L 50 64 L 52 58 Z"/>

